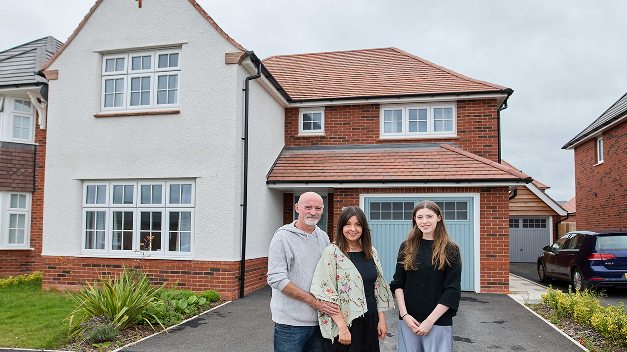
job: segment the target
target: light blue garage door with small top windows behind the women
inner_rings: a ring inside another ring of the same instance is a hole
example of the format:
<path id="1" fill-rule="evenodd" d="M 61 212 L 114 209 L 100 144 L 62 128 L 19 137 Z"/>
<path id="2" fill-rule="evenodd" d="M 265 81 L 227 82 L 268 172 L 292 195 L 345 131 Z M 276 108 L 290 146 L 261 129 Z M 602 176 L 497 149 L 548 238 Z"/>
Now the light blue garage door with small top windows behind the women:
<path id="1" fill-rule="evenodd" d="M 392 281 L 401 242 L 411 230 L 411 213 L 421 200 L 433 200 L 443 211 L 448 234 L 461 249 L 461 289 L 475 289 L 472 197 L 366 197 L 364 211 L 372 230 L 372 246 L 377 249 L 383 275 Z"/>

